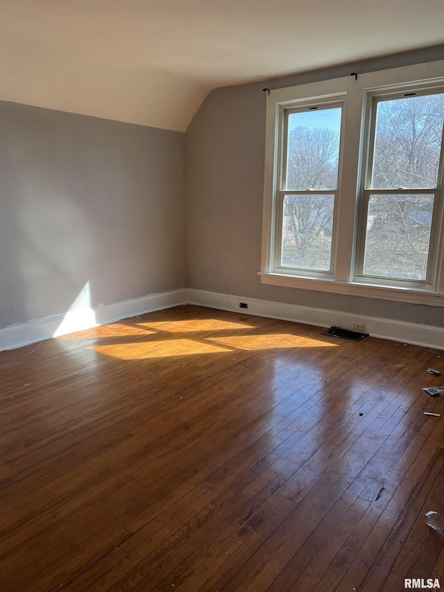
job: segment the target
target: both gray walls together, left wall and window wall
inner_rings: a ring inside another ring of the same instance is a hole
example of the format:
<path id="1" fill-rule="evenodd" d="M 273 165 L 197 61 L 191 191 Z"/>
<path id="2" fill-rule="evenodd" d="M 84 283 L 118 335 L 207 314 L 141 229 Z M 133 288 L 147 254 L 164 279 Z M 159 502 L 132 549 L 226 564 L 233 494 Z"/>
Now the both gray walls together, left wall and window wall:
<path id="1" fill-rule="evenodd" d="M 442 308 L 266 286 L 257 276 L 262 88 L 442 56 L 432 48 L 215 90 L 189 126 L 186 160 L 183 133 L 0 102 L 0 328 L 67 312 L 88 282 L 92 306 L 189 285 L 443 326 Z"/>

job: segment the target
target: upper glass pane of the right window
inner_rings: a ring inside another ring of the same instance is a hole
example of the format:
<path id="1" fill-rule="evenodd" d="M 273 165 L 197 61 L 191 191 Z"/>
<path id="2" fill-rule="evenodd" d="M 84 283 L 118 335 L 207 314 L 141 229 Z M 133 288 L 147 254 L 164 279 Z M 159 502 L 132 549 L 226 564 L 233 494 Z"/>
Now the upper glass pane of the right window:
<path id="1" fill-rule="evenodd" d="M 438 184 L 444 94 L 377 103 L 373 189 L 427 189 Z"/>

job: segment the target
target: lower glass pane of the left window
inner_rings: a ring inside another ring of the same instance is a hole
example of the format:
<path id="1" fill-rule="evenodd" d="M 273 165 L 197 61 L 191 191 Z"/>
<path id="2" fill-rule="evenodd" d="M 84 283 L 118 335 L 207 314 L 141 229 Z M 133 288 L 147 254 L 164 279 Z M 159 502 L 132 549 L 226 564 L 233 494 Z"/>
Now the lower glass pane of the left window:
<path id="1" fill-rule="evenodd" d="M 286 195 L 282 217 L 285 267 L 330 269 L 334 195 Z"/>

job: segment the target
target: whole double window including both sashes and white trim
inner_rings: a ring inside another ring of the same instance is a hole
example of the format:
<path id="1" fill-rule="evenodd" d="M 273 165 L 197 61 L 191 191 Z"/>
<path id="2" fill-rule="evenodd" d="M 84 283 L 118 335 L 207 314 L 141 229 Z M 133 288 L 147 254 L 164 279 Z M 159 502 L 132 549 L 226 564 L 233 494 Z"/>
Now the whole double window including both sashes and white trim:
<path id="1" fill-rule="evenodd" d="M 271 91 L 262 282 L 444 306 L 443 72 Z"/>

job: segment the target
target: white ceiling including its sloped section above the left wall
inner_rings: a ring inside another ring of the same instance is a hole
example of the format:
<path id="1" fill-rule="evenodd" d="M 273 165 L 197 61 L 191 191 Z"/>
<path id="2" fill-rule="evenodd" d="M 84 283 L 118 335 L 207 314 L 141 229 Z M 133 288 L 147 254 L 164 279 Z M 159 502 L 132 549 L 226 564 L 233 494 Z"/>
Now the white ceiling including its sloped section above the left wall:
<path id="1" fill-rule="evenodd" d="M 185 130 L 215 87 L 440 44 L 444 0 L 1 0 L 6 101 Z"/>

